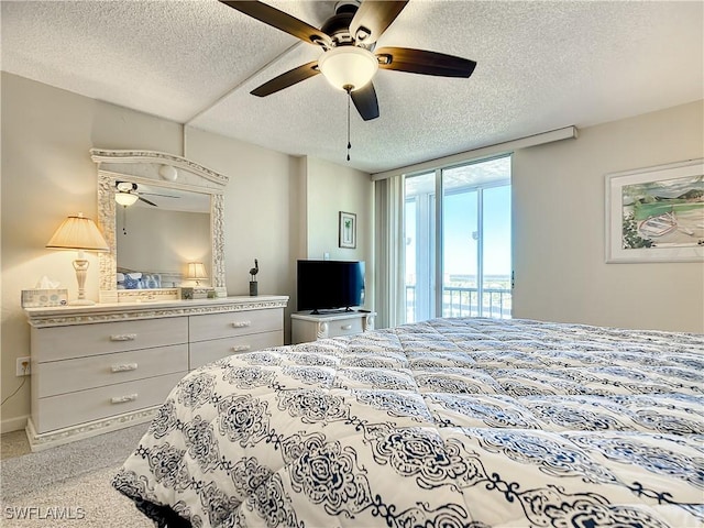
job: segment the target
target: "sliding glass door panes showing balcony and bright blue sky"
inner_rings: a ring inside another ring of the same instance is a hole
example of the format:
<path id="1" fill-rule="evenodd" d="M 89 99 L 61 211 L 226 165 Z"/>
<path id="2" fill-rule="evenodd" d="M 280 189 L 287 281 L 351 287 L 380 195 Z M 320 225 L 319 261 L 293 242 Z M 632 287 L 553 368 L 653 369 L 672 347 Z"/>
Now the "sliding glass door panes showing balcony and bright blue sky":
<path id="1" fill-rule="evenodd" d="M 510 157 L 407 177 L 405 194 L 406 322 L 510 318 Z"/>

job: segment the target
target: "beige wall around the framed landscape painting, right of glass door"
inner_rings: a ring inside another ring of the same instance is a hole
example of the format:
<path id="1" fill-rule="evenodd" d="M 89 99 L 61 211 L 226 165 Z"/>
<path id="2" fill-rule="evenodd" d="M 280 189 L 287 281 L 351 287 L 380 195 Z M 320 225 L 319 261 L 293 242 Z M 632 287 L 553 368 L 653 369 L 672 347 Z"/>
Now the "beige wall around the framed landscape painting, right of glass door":
<path id="1" fill-rule="evenodd" d="M 704 264 L 606 264 L 605 175 L 704 157 L 704 101 L 514 155 L 514 317 L 704 332 Z"/>

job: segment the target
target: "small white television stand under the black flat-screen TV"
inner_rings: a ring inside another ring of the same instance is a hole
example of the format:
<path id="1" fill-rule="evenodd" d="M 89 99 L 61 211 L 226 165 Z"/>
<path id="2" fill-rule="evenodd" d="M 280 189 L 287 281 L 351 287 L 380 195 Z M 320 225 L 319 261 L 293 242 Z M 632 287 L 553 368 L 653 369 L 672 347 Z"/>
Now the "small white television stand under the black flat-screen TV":
<path id="1" fill-rule="evenodd" d="M 321 314 L 299 311 L 290 315 L 292 343 L 307 343 L 326 338 L 355 336 L 374 330 L 374 311 L 323 310 Z"/>

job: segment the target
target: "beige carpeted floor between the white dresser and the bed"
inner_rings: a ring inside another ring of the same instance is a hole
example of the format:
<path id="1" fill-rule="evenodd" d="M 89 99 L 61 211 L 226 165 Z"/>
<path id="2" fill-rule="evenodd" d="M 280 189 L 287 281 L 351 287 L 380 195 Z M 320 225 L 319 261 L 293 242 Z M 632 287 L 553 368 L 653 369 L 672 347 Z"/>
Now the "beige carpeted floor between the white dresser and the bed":
<path id="1" fill-rule="evenodd" d="M 16 457 L 10 455 L 22 453 L 21 438 L 3 435 L 0 526 L 153 527 L 130 499 L 110 485 L 147 427 L 143 424 Z"/>

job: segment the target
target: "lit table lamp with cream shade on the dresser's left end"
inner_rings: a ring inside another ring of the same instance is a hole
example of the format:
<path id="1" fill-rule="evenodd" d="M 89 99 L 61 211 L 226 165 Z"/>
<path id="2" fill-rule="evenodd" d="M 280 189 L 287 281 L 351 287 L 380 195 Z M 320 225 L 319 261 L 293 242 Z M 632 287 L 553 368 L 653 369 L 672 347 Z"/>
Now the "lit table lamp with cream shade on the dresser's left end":
<path id="1" fill-rule="evenodd" d="M 95 305 L 92 300 L 86 299 L 86 273 L 89 262 L 84 257 L 84 251 L 106 252 L 110 250 L 95 222 L 84 217 L 82 212 L 68 217 L 46 243 L 46 248 L 78 251 L 78 257 L 74 261 L 76 280 L 78 282 L 78 298 L 69 304 Z"/>

